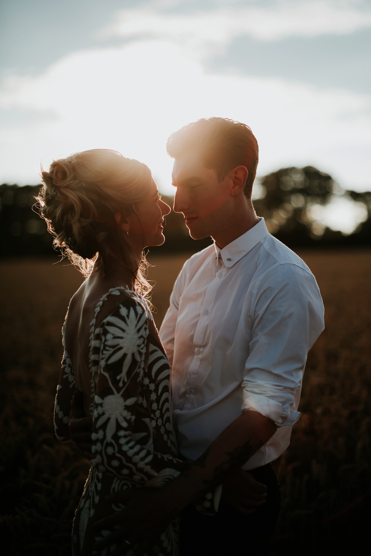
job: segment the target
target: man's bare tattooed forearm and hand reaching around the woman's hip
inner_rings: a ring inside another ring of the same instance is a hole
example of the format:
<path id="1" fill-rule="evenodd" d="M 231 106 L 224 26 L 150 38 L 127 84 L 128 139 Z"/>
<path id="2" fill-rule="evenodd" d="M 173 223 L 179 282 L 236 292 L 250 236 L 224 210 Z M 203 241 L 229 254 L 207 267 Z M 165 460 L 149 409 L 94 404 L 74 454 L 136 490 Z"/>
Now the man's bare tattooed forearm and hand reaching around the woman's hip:
<path id="1" fill-rule="evenodd" d="M 161 489 L 142 488 L 122 493 L 120 499 L 127 502 L 126 508 L 97 522 L 96 528 L 123 525 L 117 532 L 97 543 L 95 550 L 118 542 L 118 554 L 126 542 L 139 542 L 137 553 L 140 554 L 156 534 L 166 529 L 176 514 L 199 498 L 205 490 L 207 492 L 221 484 L 251 458 L 275 431 L 273 421 L 256 411 L 245 411 L 177 479 Z M 110 497 L 107 499 L 110 500 Z"/>

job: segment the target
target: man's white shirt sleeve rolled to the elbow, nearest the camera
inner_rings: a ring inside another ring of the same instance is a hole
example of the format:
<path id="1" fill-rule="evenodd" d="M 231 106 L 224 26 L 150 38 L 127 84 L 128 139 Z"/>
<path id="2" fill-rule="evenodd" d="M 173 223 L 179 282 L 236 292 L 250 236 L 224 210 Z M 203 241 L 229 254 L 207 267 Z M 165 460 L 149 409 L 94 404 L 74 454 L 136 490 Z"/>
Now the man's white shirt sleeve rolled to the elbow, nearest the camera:
<path id="1" fill-rule="evenodd" d="M 277 426 L 293 425 L 306 356 L 324 329 L 319 288 L 309 271 L 282 264 L 260 277 L 253 296 L 241 409 L 258 411 Z"/>

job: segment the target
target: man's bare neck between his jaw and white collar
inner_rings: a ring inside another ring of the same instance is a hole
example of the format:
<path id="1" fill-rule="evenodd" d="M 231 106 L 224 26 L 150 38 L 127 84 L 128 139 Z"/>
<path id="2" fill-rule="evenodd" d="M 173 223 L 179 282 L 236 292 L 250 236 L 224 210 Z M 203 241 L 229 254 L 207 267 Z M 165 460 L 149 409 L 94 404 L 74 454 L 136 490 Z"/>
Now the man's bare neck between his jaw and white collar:
<path id="1" fill-rule="evenodd" d="M 220 249 L 223 249 L 238 237 L 246 234 L 246 232 L 251 230 L 258 222 L 259 219 L 255 214 L 251 199 L 246 199 L 244 206 L 238 207 L 234 214 L 223 222 L 211 237 L 216 245 Z"/>

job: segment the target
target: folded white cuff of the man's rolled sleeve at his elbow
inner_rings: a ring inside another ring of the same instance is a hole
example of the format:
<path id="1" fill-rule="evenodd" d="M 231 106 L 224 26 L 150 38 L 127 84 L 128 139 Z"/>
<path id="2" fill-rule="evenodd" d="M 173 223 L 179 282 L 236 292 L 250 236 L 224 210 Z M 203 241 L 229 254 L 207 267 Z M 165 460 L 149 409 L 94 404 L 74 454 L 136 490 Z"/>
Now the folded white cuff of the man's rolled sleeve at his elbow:
<path id="1" fill-rule="evenodd" d="M 289 408 L 288 404 L 282 405 L 279 401 L 272 400 L 261 394 L 251 394 L 244 390 L 244 403 L 242 411 L 258 411 L 261 415 L 268 417 L 277 426 L 294 425 L 299 420 L 299 411 Z"/>

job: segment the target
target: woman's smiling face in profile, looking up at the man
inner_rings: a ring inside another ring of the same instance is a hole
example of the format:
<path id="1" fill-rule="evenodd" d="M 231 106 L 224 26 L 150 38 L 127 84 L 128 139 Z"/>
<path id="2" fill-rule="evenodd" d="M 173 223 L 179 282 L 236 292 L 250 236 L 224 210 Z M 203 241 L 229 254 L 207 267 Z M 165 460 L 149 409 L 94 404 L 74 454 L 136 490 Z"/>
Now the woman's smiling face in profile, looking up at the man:
<path id="1" fill-rule="evenodd" d="M 162 245 L 165 241 L 162 231 L 164 228 L 164 216 L 171 211 L 169 205 L 161 201 L 159 189 L 155 180 L 145 198 L 138 203 L 137 214 L 129 216 L 126 220 L 128 223 L 128 241 L 138 243 L 138 250 L 151 245 Z M 140 221 L 138 220 L 138 217 Z M 123 226 L 125 233 L 125 225 Z"/>

